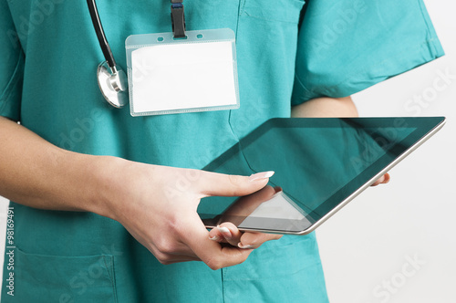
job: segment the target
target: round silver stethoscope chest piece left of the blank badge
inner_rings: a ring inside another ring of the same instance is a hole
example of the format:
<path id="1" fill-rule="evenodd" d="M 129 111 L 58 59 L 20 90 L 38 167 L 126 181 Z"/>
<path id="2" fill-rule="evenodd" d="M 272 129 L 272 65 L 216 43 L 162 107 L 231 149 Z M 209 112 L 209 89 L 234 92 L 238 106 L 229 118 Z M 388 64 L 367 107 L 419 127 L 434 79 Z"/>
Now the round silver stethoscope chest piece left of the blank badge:
<path id="1" fill-rule="evenodd" d="M 122 108 L 129 102 L 129 84 L 123 70 L 109 68 L 108 62 L 103 61 L 98 65 L 97 78 L 99 90 L 110 105 Z"/>

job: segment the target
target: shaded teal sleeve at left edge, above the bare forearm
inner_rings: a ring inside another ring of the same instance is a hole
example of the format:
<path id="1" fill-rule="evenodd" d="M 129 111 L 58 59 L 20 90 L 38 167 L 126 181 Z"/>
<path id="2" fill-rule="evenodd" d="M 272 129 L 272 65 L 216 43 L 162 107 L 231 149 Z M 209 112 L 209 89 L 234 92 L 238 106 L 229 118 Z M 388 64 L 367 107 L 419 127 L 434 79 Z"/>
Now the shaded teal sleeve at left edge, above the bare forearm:
<path id="1" fill-rule="evenodd" d="M 0 116 L 20 120 L 24 52 L 6 0 L 0 0 Z"/>

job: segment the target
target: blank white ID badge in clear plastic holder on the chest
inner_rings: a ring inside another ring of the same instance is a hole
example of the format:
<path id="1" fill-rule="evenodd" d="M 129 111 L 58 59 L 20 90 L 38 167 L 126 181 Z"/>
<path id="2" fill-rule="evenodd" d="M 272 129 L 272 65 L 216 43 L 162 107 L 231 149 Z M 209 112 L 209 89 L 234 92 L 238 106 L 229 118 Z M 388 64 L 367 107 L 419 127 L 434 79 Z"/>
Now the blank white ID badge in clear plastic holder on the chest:
<path id="1" fill-rule="evenodd" d="M 236 47 L 229 28 L 127 38 L 131 116 L 239 108 Z"/>

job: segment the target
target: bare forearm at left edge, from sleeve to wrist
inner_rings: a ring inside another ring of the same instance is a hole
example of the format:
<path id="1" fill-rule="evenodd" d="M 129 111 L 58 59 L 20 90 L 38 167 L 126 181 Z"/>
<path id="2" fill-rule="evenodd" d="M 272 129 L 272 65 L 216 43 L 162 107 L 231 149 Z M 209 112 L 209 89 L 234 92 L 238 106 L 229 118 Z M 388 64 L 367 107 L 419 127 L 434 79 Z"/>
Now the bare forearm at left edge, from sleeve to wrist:
<path id="1" fill-rule="evenodd" d="M 65 151 L 0 117 L 0 195 L 27 206 L 104 214 L 108 157 Z"/>

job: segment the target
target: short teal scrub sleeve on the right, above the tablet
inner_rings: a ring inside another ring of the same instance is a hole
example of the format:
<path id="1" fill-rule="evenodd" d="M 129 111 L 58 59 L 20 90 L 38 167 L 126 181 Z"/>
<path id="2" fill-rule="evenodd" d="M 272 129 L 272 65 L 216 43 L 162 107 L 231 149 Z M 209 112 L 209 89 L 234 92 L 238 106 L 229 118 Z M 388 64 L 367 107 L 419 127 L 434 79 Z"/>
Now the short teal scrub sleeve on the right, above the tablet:
<path id="1" fill-rule="evenodd" d="M 443 56 L 421 0 L 308 0 L 292 104 L 341 98 Z"/>

